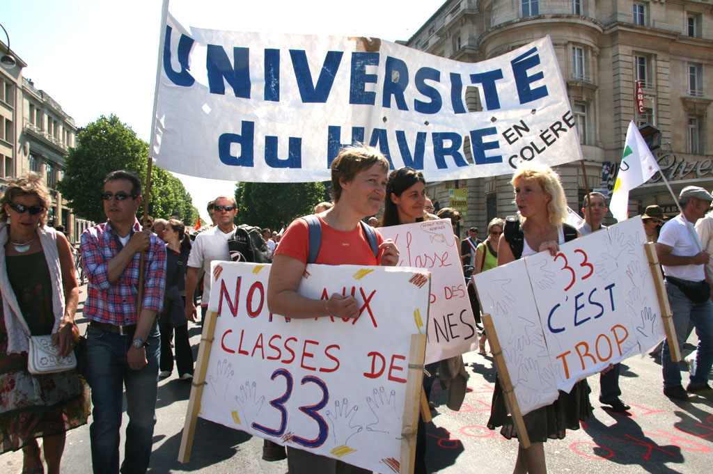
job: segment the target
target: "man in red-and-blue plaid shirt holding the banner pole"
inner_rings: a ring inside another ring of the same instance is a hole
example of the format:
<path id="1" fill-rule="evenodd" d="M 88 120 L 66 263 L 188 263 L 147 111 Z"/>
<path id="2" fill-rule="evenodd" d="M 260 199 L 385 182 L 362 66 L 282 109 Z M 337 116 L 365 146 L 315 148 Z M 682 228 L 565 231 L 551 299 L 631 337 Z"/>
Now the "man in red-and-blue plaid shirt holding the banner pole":
<path id="1" fill-rule="evenodd" d="M 101 195 L 107 222 L 83 232 L 81 252 L 88 277 L 84 315 L 89 319 L 87 378 L 93 422 L 89 428 L 95 474 L 119 472 L 123 388 L 129 423 L 123 474 L 145 473 L 151 455 L 158 391 L 166 251 L 136 219 L 141 181 L 133 172 L 109 173 Z M 141 311 L 137 316 L 140 252 L 145 252 Z"/>

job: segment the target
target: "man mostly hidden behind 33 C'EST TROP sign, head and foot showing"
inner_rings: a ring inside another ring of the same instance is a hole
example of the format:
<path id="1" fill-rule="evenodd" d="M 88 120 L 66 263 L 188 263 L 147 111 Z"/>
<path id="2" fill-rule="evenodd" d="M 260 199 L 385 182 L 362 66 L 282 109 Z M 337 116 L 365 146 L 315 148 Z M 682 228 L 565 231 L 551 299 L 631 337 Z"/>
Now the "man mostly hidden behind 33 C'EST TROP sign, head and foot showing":
<path id="1" fill-rule="evenodd" d="M 602 225 L 602 220 L 604 220 L 604 216 L 609 209 L 607 208 L 606 198 L 601 192 L 595 191 L 586 195 L 584 197 L 583 206 L 582 215 L 584 216 L 584 220 L 577 228 L 583 237 L 597 230 L 607 228 L 607 226 Z M 600 403 L 609 405 L 611 411 L 626 413 L 631 407 L 619 398 L 622 394 L 621 388 L 619 388 L 620 371 L 621 365 L 614 364 L 612 370 L 600 373 L 599 401 Z"/>

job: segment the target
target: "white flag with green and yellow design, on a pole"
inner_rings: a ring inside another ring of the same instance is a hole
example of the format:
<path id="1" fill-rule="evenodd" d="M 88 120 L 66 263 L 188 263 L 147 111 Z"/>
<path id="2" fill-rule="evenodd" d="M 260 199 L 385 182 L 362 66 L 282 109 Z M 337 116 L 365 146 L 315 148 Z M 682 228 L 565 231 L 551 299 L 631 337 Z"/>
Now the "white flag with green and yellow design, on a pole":
<path id="1" fill-rule="evenodd" d="M 626 133 L 624 155 L 614 184 L 612 200 L 609 202 L 609 209 L 617 222 L 625 220 L 629 213 L 629 191 L 650 180 L 659 170 L 659 164 L 632 120 Z"/>

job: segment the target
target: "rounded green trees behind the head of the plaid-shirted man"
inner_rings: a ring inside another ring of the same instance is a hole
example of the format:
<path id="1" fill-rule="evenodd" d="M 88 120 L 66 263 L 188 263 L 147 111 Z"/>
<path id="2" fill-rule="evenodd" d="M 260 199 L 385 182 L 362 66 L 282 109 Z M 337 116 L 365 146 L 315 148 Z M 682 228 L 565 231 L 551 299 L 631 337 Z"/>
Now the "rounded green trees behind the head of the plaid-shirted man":
<path id="1" fill-rule="evenodd" d="M 77 146 L 66 156 L 66 172 L 58 189 L 76 215 L 96 222 L 106 220 L 99 195 L 104 177 L 114 170 L 136 172 L 145 185 L 148 143 L 138 138 L 116 115 L 101 115 L 77 135 Z M 143 213 L 143 206 L 139 213 Z M 153 166 L 148 213 L 168 219 L 178 215 L 186 225 L 195 224 L 198 210 L 183 183 Z"/>

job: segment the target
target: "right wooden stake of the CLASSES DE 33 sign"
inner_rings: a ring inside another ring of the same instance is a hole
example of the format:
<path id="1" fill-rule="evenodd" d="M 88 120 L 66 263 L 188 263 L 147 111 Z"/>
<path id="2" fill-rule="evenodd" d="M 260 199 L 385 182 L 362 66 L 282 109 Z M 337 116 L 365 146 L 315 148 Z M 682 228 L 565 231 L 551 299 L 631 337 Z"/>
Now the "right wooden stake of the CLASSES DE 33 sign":
<path id="1" fill-rule="evenodd" d="M 414 473 L 416 432 L 419 430 L 419 407 L 421 407 L 421 401 L 426 397 L 423 389 L 425 357 L 426 335 L 411 334 L 409 374 L 406 376 L 406 403 L 404 404 L 404 416 L 401 418 L 401 464 L 399 465 L 399 473 L 401 474 Z M 426 401 L 426 408 L 428 406 L 428 401 Z"/>

